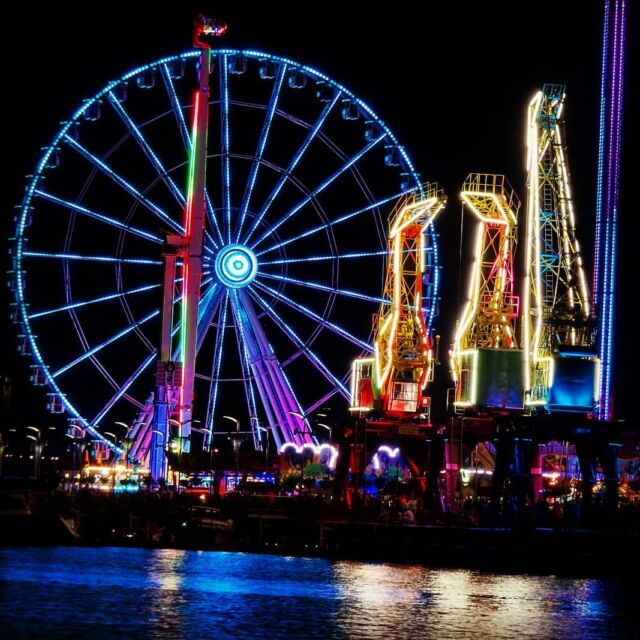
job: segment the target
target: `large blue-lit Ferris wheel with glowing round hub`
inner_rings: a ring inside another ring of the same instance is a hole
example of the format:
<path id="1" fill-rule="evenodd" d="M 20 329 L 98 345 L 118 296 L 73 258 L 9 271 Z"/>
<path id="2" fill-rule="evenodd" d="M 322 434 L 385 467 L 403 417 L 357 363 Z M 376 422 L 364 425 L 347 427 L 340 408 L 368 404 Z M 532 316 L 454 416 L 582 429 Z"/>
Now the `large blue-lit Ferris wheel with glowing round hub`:
<path id="1" fill-rule="evenodd" d="M 184 232 L 197 56 L 138 67 L 84 100 L 46 147 L 17 218 L 16 320 L 32 381 L 48 387 L 51 411 L 111 448 L 104 432 L 141 415 L 154 388 L 163 255 Z M 371 351 L 371 316 L 390 302 L 387 215 L 422 186 L 374 111 L 313 68 L 219 49 L 210 82 L 194 416 L 205 447 L 229 415 L 256 442 L 261 427 L 278 441 L 287 414 L 348 401 L 350 363 Z M 426 240 L 430 324 L 433 228 Z M 179 265 L 176 275 L 177 317 Z M 172 334 L 176 352 L 177 323 Z"/>

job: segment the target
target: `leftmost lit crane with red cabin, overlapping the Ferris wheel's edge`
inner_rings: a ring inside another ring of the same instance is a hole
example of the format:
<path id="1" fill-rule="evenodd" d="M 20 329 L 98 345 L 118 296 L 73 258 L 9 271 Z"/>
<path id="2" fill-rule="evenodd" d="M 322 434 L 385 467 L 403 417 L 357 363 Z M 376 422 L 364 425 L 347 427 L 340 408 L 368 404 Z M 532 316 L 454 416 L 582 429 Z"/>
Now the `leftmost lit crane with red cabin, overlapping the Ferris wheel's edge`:
<path id="1" fill-rule="evenodd" d="M 356 486 L 362 472 L 365 485 L 383 468 L 397 474 L 401 460 L 414 477 L 429 473 L 427 388 L 437 357 L 430 327 L 436 289 L 429 237 L 445 204 L 442 190 L 426 184 L 422 193 L 401 198 L 389 216 L 384 301 L 373 315 L 373 346 L 354 360 L 351 373 L 349 455 L 343 450 L 341 467 L 345 477 L 347 466 L 351 469 Z"/>

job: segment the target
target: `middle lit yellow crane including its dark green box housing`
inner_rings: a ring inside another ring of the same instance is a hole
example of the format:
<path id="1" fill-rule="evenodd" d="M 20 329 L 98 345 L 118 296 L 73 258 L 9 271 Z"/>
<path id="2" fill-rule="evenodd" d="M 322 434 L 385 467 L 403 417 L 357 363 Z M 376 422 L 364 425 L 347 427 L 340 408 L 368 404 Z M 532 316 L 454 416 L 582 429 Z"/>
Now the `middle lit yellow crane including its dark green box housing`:
<path id="1" fill-rule="evenodd" d="M 472 173 L 460 197 L 477 217 L 467 301 L 451 369 L 456 409 L 522 408 L 513 258 L 520 201 L 501 175 Z"/>

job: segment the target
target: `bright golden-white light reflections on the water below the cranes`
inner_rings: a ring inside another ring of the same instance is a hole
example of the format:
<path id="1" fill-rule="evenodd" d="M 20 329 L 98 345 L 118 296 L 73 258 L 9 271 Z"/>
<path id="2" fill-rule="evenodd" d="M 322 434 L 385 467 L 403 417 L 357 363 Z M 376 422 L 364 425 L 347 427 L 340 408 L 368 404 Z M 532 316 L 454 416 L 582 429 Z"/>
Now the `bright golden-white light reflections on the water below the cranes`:
<path id="1" fill-rule="evenodd" d="M 615 582 L 356 562 L 333 579 L 349 638 L 637 637 Z"/>

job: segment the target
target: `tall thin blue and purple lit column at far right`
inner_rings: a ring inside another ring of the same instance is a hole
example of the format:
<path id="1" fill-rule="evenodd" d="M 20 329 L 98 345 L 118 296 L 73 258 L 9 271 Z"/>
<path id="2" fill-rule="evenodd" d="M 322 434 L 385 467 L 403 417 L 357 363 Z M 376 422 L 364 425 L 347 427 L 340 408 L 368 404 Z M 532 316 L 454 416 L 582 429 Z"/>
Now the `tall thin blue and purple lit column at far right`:
<path id="1" fill-rule="evenodd" d="M 615 273 L 622 138 L 625 0 L 605 0 L 593 293 L 599 321 L 601 420 L 613 418 Z"/>

